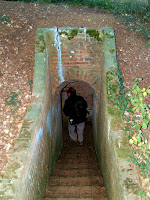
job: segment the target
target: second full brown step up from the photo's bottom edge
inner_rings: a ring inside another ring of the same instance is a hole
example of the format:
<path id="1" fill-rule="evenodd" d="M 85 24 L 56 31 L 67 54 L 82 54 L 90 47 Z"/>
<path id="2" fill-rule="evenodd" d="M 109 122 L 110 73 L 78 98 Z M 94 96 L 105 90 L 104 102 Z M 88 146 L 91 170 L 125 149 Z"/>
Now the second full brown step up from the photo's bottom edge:
<path id="1" fill-rule="evenodd" d="M 104 186 L 103 178 L 100 176 L 83 177 L 50 177 L 50 186 Z"/>

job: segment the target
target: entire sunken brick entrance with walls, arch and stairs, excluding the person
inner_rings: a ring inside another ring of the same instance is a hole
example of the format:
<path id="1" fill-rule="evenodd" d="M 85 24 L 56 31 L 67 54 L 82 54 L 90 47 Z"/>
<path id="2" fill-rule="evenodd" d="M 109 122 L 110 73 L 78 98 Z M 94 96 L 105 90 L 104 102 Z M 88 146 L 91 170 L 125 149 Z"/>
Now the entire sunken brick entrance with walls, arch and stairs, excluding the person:
<path id="1" fill-rule="evenodd" d="M 2 182 L 2 199 L 134 199 L 125 187 L 131 165 L 116 150 L 121 114 L 107 98 L 108 81 L 118 94 L 117 70 L 112 28 L 37 30 L 32 102 Z M 62 109 L 69 87 L 88 104 L 82 146 L 68 141 Z"/>

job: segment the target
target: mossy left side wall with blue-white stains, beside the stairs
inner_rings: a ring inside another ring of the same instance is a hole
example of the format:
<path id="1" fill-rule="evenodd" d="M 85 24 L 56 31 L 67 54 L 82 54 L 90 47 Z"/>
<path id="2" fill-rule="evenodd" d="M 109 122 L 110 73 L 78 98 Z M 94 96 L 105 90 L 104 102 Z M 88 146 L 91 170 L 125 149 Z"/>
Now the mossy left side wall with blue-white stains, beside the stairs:
<path id="1" fill-rule="evenodd" d="M 52 96 L 45 32 L 37 32 L 32 103 L 0 186 L 0 199 L 38 200 L 62 148 L 60 96 Z M 40 40 L 39 40 L 40 38 Z"/>

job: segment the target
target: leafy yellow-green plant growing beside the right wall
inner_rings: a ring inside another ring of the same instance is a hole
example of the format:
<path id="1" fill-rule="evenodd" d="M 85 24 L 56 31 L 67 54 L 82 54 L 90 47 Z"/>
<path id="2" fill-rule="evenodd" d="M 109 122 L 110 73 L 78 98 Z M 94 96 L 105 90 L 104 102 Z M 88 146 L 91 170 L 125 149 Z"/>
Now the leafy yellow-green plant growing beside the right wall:
<path id="1" fill-rule="evenodd" d="M 144 98 L 150 94 L 150 86 L 148 88 L 140 88 L 139 82 L 142 78 L 134 80 L 132 90 L 129 92 L 130 105 L 133 115 L 130 117 L 129 143 L 134 150 L 134 163 L 138 166 L 141 175 L 146 178 L 150 174 L 149 159 L 149 134 L 148 126 L 150 123 L 150 108 L 143 103 Z M 132 132 L 131 132 L 132 129 Z"/>

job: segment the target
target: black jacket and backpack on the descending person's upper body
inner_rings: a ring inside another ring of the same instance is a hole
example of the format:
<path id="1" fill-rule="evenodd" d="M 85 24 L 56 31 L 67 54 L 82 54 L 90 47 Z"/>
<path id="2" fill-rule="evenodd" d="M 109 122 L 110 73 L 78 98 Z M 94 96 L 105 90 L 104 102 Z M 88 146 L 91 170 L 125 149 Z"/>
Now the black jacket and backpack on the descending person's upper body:
<path id="1" fill-rule="evenodd" d="M 85 122 L 87 115 L 87 103 L 81 96 L 70 96 L 65 101 L 63 112 L 69 119 L 74 120 L 74 124 Z"/>

